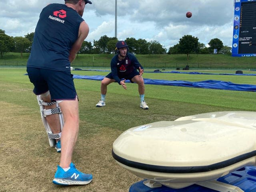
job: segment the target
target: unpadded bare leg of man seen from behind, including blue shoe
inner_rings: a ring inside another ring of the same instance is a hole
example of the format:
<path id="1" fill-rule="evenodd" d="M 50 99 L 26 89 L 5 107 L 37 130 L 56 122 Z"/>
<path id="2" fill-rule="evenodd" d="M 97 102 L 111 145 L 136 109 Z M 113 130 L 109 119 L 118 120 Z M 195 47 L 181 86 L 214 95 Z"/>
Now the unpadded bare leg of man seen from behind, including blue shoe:
<path id="1" fill-rule="evenodd" d="M 79 130 L 78 98 L 76 100 L 63 100 L 60 103 L 64 117 L 62 128 L 62 150 L 60 165 L 52 182 L 58 185 L 85 185 L 92 181 L 92 174 L 84 174 L 76 169 L 71 162 L 74 146 Z"/>

